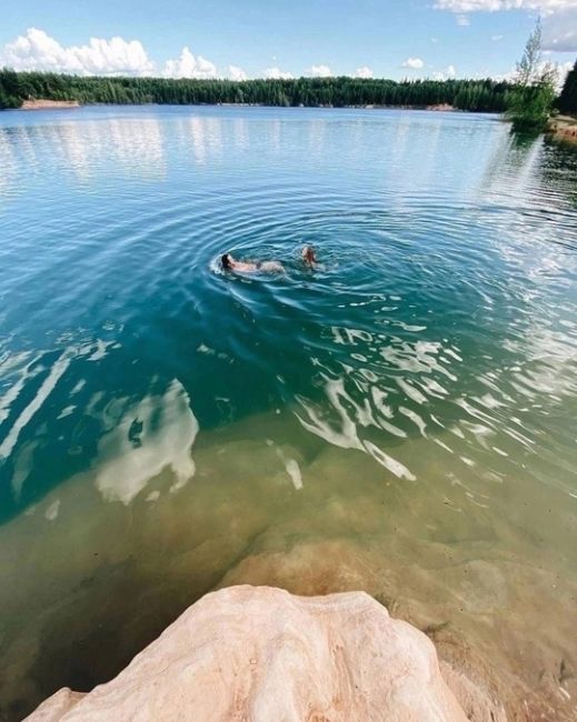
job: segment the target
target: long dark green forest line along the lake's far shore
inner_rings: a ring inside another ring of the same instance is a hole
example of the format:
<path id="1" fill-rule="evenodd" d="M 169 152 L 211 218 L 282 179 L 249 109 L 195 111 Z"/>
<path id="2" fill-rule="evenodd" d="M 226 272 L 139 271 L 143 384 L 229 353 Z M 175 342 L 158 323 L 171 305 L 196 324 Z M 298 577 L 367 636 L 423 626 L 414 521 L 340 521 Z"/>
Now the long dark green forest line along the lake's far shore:
<path id="1" fill-rule="evenodd" d="M 81 104 L 218 104 L 281 107 L 448 104 L 459 110 L 503 112 L 515 84 L 485 80 L 405 80 L 296 78 L 290 80 L 196 80 L 133 77 L 81 77 L 53 72 L 0 70 L 0 109 L 24 100 L 76 100 Z"/>

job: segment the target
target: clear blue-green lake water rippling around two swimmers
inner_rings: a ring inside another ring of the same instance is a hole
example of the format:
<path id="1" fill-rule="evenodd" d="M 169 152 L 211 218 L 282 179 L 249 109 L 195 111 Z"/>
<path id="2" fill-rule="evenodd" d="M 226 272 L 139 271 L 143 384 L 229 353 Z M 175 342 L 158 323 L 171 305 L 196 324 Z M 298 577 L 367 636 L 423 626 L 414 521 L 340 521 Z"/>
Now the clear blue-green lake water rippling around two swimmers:
<path id="1" fill-rule="evenodd" d="M 238 582 L 574 713 L 576 280 L 577 153 L 495 117 L 0 114 L 4 718 Z"/>

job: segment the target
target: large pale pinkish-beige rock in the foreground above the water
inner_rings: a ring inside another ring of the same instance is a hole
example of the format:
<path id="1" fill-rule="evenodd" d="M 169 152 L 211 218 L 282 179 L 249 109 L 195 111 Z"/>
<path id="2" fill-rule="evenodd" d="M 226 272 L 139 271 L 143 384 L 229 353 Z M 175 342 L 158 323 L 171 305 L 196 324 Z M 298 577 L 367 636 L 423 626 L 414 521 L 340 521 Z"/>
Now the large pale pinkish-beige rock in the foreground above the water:
<path id="1" fill-rule="evenodd" d="M 364 592 L 232 586 L 190 606 L 117 678 L 29 722 L 466 722 L 435 646 Z"/>

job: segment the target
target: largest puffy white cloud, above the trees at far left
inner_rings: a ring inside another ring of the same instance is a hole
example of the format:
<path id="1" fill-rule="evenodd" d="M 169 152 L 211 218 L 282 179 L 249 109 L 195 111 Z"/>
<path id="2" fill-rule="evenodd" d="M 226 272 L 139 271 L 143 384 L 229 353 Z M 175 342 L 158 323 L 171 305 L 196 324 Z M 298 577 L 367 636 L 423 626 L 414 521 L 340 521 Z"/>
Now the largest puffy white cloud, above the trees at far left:
<path id="1" fill-rule="evenodd" d="M 90 38 L 86 46 L 64 48 L 38 28 L 29 28 L 24 36 L 6 44 L 0 51 L 0 66 L 79 76 L 146 76 L 155 68 L 138 40 Z"/>

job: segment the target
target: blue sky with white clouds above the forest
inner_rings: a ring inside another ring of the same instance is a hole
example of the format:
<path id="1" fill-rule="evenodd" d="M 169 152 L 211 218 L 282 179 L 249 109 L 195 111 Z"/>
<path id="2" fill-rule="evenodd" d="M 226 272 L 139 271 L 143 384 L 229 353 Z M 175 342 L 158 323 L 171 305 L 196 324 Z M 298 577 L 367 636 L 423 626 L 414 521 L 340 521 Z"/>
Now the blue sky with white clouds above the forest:
<path id="1" fill-rule="evenodd" d="M 577 57 L 577 0 L 2 0 L 0 67 L 190 78 L 506 78 L 541 18 Z"/>

